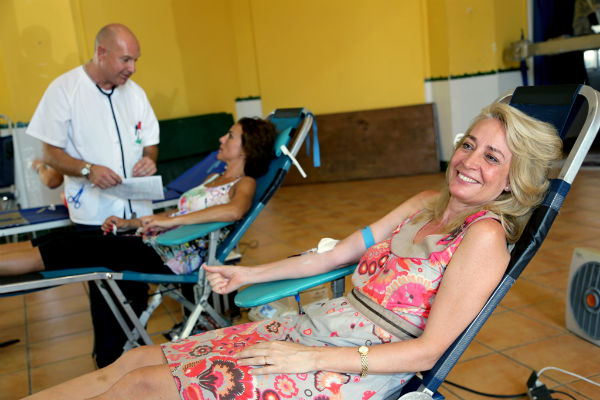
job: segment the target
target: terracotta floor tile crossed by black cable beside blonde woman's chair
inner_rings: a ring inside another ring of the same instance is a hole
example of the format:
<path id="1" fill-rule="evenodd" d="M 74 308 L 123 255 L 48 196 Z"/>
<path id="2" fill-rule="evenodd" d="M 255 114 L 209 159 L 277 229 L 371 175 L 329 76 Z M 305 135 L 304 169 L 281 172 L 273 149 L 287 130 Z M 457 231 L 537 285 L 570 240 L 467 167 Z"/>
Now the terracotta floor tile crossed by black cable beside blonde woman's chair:
<path id="1" fill-rule="evenodd" d="M 447 380 L 480 392 L 516 394 L 524 392 L 530 373 L 519 363 L 493 353 L 457 364 Z M 451 390 L 462 399 L 481 399 L 481 396 L 461 389 L 452 387 Z"/>

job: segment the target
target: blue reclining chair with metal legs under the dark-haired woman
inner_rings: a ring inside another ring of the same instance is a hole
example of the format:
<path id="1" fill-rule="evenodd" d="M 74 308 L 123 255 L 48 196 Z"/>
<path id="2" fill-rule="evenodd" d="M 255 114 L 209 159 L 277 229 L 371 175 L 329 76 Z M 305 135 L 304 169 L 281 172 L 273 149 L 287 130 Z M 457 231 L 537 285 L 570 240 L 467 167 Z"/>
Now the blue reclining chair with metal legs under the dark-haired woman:
<path id="1" fill-rule="evenodd" d="M 257 179 L 254 200 L 250 210 L 246 213 L 244 218 L 233 223 L 215 222 L 182 226 L 161 235 L 157 240 L 160 244 L 181 244 L 209 235 L 206 263 L 223 264 L 225 262 L 227 255 L 236 246 L 243 234 L 265 207 L 269 199 L 277 191 L 292 163 L 296 163 L 294 156 L 298 153 L 311 128 L 313 129 L 315 146 L 317 146 L 318 143 L 314 116 L 306 109 L 278 109 L 271 113 L 267 118 L 275 124 L 279 134 L 275 143 L 276 158 L 271 161 L 268 172 Z M 294 142 L 288 149 L 288 143 L 292 138 L 294 138 Z M 281 150 L 282 147 L 284 147 L 284 150 Z M 316 148 L 317 147 L 315 147 L 315 149 Z M 313 155 L 315 157 L 315 163 L 317 163 L 318 151 L 314 151 Z M 222 242 L 218 243 L 220 231 L 225 227 L 229 229 L 229 233 Z M 92 280 L 98 284 L 101 293 L 128 337 L 128 343 L 125 349 L 141 344 L 140 339 L 143 344 L 152 344 L 152 340 L 145 330 L 145 324 L 151 313 L 160 304 L 163 294 L 179 301 L 191 312 L 179 337 L 189 335 L 198 322 L 206 328 L 212 329 L 212 325 L 201 315 L 203 312 L 208 314 L 219 326 L 227 326 L 230 324 L 229 321 L 208 303 L 210 285 L 206 282 L 204 270 L 202 269 L 189 275 L 146 274 L 135 271 L 116 272 L 104 267 L 41 271 L 34 274 L 0 279 L 0 295 L 22 294 L 32 290 Z M 159 284 L 157 291 L 151 298 L 148 308 L 142 315 L 138 316 L 133 311 L 128 300 L 116 285 L 116 280 Z M 194 302 L 189 301 L 176 290 L 176 286 L 180 284 L 194 285 Z M 114 294 L 119 304 L 116 304 L 112 300 L 109 291 Z M 227 305 L 225 307 L 227 307 Z M 129 328 L 127 321 L 133 325 L 133 328 Z"/>

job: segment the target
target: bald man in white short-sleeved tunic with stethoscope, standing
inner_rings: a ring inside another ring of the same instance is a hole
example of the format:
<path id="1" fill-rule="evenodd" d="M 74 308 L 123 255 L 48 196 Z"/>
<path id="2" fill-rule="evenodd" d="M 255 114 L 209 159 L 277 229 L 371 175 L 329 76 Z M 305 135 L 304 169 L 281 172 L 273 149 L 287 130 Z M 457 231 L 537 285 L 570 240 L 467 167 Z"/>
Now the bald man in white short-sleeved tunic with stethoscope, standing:
<path id="1" fill-rule="evenodd" d="M 101 235 L 100 226 L 112 215 L 135 218 L 152 213 L 150 201 L 104 192 L 123 178 L 156 172 L 158 121 L 146 94 L 130 79 L 139 57 L 139 43 L 126 26 L 100 29 L 94 58 L 50 84 L 27 128 L 44 142 L 43 161 L 64 175 L 69 216 L 78 229 L 88 231 L 85 234 Z M 147 304 L 147 285 L 119 286 L 141 312 Z M 103 367 L 118 358 L 126 338 L 95 284 L 90 284 L 90 302 L 96 362 Z"/>

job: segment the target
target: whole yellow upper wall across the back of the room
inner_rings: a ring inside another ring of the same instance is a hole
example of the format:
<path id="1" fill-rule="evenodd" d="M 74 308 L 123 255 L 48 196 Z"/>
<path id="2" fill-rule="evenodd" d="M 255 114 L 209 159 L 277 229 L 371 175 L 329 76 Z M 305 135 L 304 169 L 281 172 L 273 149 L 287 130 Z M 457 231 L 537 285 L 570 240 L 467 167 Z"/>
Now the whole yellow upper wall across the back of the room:
<path id="1" fill-rule="evenodd" d="M 501 42 L 518 39 L 525 2 L 2 0 L 0 113 L 28 121 L 110 22 L 138 36 L 133 79 L 160 119 L 233 112 L 246 96 L 265 112 L 422 103 L 426 78 L 505 68 Z"/>

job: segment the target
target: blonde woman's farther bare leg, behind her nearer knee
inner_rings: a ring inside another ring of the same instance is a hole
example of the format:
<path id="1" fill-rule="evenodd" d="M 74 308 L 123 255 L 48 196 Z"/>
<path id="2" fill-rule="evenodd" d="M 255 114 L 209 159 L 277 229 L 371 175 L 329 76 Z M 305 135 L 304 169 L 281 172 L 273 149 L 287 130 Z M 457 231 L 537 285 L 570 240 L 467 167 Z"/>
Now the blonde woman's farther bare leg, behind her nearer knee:
<path id="1" fill-rule="evenodd" d="M 139 368 L 164 364 L 166 371 L 171 375 L 166 363 L 167 360 L 159 345 L 136 347 L 123 354 L 117 361 L 105 368 L 42 390 L 27 397 L 27 399 L 89 399 L 105 393 L 117 382 L 120 382 L 123 377 L 128 376 L 130 372 Z M 175 384 L 173 382 L 169 383 L 171 383 L 175 394 L 177 394 Z M 148 396 L 147 398 L 156 397 Z"/>

